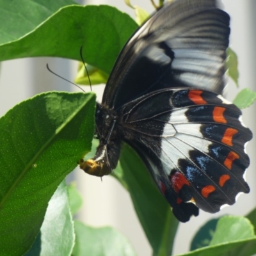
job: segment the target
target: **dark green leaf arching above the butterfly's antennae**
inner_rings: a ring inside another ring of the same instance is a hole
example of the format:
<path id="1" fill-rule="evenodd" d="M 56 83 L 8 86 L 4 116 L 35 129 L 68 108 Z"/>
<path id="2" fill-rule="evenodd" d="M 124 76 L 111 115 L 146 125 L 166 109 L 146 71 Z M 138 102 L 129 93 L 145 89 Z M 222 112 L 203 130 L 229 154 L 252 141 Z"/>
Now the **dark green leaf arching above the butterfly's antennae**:
<path id="1" fill-rule="evenodd" d="M 83 46 L 84 61 L 109 74 L 136 28 L 129 15 L 110 6 L 67 6 L 28 35 L 1 45 L 0 61 L 33 56 L 81 60 Z"/>

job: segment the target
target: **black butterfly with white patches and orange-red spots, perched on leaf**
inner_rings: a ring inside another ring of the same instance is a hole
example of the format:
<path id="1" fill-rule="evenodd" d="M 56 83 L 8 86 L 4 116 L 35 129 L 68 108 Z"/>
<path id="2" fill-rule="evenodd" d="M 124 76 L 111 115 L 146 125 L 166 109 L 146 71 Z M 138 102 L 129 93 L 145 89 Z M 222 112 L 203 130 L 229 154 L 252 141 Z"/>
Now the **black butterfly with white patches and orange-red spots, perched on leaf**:
<path id="1" fill-rule="evenodd" d="M 182 222 L 250 191 L 244 145 L 252 132 L 221 96 L 229 22 L 215 0 L 177 0 L 134 32 L 97 103 L 99 147 L 81 160 L 84 172 L 111 173 L 125 141 Z"/>

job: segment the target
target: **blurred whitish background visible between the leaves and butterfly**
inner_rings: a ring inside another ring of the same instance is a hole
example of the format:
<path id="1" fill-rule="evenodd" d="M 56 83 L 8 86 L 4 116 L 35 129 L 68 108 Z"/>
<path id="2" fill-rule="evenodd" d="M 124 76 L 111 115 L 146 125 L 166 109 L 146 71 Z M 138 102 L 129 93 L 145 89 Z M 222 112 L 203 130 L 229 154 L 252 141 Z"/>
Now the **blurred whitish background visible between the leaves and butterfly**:
<path id="1" fill-rule="evenodd" d="M 231 16 L 230 46 L 239 57 L 239 84 L 240 89 L 249 87 L 256 91 L 256 1 L 254 0 L 223 0 L 223 8 Z M 148 12 L 153 8 L 149 0 L 131 0 L 132 4 L 140 5 Z M 125 5 L 124 1 L 91 0 L 87 4 L 111 4 L 134 17 L 133 10 Z M 79 51 L 79 49 L 77 50 Z M 20 60 L 4 61 L 1 63 L 0 76 L 0 115 L 22 100 L 32 97 L 36 93 L 49 90 L 74 91 L 76 88 L 58 77 L 50 74 L 46 68 L 49 63 L 52 70 L 67 79 L 76 76 L 77 62 L 60 58 L 27 58 Z M 15 75 L 13 75 L 15 74 Z M 232 81 L 228 83 L 228 99 L 234 99 L 238 92 Z M 104 86 L 93 86 L 93 91 L 98 93 L 98 100 L 102 96 Z M 89 89 L 87 89 L 89 90 Z M 243 120 L 256 134 L 255 106 L 243 111 Z M 256 206 L 256 157 L 255 138 L 248 144 L 247 152 L 250 155 L 251 166 L 246 178 L 251 188 L 249 195 L 241 195 L 238 202 L 232 207 L 226 207 L 218 214 L 207 214 L 200 211 L 197 218 L 189 223 L 181 223 L 175 240 L 174 253 L 188 252 L 191 237 L 205 221 L 223 214 L 247 214 Z M 255 157 L 255 158 L 254 158 Z M 148 244 L 134 212 L 129 194 L 112 177 L 104 177 L 101 181 L 97 177 L 75 170 L 68 180 L 76 180 L 79 191 L 83 194 L 84 205 L 78 218 L 86 224 L 95 227 L 111 225 L 129 237 L 138 255 L 151 255 Z"/>

